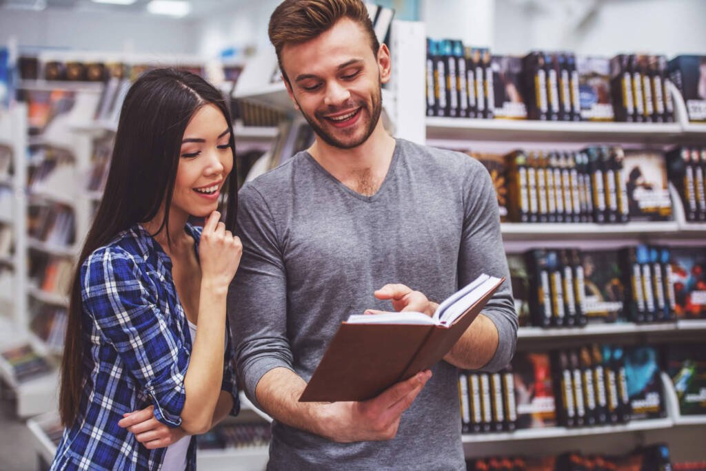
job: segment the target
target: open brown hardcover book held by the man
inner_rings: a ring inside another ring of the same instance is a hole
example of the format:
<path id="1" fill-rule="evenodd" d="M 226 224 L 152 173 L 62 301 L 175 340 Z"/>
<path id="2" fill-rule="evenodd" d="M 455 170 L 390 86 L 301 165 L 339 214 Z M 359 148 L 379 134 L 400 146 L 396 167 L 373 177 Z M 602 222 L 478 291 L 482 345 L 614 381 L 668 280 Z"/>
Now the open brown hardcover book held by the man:
<path id="1" fill-rule="evenodd" d="M 342 322 L 299 401 L 367 400 L 428 369 L 451 350 L 505 279 L 483 274 L 421 312 L 350 316 Z"/>

